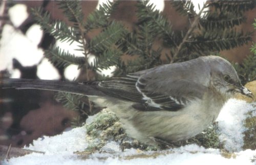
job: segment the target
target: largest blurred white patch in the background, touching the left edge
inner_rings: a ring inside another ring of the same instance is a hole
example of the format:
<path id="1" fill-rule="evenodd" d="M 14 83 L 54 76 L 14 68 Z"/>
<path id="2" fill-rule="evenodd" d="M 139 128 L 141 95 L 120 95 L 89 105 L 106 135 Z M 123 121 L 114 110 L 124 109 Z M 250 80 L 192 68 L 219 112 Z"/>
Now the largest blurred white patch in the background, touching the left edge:
<path id="1" fill-rule="evenodd" d="M 12 70 L 12 59 L 16 58 L 23 66 L 38 64 L 44 51 L 37 48 L 27 36 L 13 26 L 6 24 L 0 40 L 0 70 Z"/>

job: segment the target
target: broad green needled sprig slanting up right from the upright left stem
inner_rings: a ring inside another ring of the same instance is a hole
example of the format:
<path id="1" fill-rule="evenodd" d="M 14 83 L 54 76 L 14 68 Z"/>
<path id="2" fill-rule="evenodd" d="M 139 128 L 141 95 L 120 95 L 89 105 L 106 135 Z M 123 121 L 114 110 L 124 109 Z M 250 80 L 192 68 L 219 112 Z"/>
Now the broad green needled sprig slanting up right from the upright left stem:
<path id="1" fill-rule="evenodd" d="M 115 45 L 126 34 L 127 31 L 121 23 L 113 22 L 90 41 L 89 50 L 90 52 L 100 54 Z"/>

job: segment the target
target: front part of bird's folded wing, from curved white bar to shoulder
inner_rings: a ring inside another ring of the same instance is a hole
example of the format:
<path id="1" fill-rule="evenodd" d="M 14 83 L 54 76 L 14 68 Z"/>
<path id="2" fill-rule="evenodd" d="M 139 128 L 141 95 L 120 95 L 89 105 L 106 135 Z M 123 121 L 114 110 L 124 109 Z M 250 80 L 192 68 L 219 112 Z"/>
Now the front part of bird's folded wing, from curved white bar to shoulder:
<path id="1" fill-rule="evenodd" d="M 168 111 L 178 111 L 183 106 L 196 98 L 202 98 L 206 87 L 186 79 L 166 81 L 140 77 L 136 82 L 137 90 L 146 99 L 150 106 L 159 107 Z"/>

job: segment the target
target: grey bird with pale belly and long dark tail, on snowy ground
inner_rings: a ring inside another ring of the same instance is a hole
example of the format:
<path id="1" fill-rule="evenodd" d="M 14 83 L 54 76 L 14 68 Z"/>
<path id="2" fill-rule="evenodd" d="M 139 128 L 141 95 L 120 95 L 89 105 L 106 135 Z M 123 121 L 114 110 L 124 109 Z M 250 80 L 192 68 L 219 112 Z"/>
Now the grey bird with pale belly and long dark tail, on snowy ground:
<path id="1" fill-rule="evenodd" d="M 96 105 L 113 111 L 127 134 L 151 144 L 186 140 L 200 133 L 236 92 L 253 97 L 232 65 L 216 56 L 92 83 L 2 79 L 0 87 L 87 95 Z"/>

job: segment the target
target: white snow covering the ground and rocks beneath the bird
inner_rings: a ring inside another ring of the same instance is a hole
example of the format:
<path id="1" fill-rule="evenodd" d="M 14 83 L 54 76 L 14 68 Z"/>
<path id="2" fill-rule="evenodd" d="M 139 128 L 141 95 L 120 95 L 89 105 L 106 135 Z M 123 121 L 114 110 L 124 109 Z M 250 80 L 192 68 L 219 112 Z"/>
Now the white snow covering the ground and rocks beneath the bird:
<path id="1" fill-rule="evenodd" d="M 247 113 L 253 110 L 255 103 L 230 99 L 223 107 L 217 121 L 220 128 L 220 139 L 226 150 L 236 150 L 228 158 L 219 149 L 205 149 L 190 144 L 163 151 L 141 151 L 125 149 L 123 152 L 117 142 L 110 141 L 100 151 L 88 157 L 75 154 L 88 146 L 86 127 L 73 128 L 56 136 L 43 136 L 33 141 L 25 149 L 42 151 L 25 156 L 11 158 L 2 163 L 11 164 L 255 164 L 256 150 L 242 150 L 242 133 L 245 130 L 243 121 Z M 255 109 L 255 107 L 254 107 Z M 254 114 L 256 115 L 256 114 Z M 93 120 L 93 119 L 92 119 Z M 92 121 L 90 120 L 90 121 Z M 241 136 L 241 137 L 240 137 Z"/>

